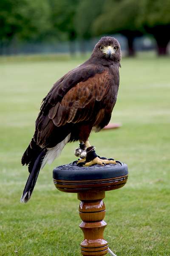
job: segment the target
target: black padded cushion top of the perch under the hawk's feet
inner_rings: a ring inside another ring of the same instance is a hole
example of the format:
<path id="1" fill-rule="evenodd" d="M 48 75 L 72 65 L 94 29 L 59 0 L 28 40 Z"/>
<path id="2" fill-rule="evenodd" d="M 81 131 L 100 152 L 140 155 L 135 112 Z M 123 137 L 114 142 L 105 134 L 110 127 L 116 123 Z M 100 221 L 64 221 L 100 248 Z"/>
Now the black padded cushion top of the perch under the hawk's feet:
<path id="1" fill-rule="evenodd" d="M 125 163 L 122 163 L 122 166 L 117 163 L 89 167 L 79 167 L 70 163 L 58 166 L 53 170 L 53 178 L 55 180 L 98 180 L 116 178 L 127 174 L 128 169 Z"/>

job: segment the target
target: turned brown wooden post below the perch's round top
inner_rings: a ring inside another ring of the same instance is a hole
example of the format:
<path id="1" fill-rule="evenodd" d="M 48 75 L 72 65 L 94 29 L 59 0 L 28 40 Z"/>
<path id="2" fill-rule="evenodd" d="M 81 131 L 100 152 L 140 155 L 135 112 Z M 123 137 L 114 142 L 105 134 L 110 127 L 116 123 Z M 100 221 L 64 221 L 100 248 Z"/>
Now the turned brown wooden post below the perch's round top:
<path id="1" fill-rule="evenodd" d="M 84 233 L 84 240 L 80 244 L 82 255 L 102 256 L 108 253 L 108 242 L 103 238 L 103 232 L 106 227 L 105 204 L 102 199 L 105 198 L 105 191 L 78 193 L 79 216 L 82 223 L 79 227 Z"/>

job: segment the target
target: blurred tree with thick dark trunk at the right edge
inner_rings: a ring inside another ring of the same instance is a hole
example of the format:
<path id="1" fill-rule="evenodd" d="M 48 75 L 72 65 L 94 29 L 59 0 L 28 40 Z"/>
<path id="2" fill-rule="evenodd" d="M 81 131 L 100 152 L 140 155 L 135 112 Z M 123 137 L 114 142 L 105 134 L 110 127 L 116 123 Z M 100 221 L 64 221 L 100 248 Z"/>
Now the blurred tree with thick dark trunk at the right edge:
<path id="1" fill-rule="evenodd" d="M 170 0 L 143 0 L 140 4 L 140 26 L 154 36 L 158 55 L 166 55 L 170 41 Z"/>

